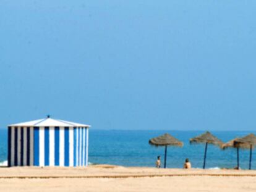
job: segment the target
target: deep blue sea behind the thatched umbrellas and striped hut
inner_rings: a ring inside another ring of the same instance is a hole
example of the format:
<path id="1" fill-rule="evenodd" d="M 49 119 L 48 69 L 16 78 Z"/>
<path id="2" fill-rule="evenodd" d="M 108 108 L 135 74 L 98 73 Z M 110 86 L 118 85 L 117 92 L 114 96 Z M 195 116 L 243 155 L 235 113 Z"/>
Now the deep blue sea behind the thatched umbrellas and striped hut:
<path id="1" fill-rule="evenodd" d="M 164 159 L 164 147 L 148 144 L 150 138 L 169 133 L 184 142 L 184 146 L 169 146 L 166 166 L 182 168 L 186 158 L 192 167 L 202 168 L 205 145 L 190 144 L 189 139 L 204 131 L 174 130 L 93 130 L 89 131 L 89 164 L 113 164 L 127 167 L 155 167 L 157 156 Z M 256 131 L 212 131 L 213 135 L 227 142 Z M 249 150 L 241 149 L 241 169 L 249 167 Z M 7 129 L 0 129 L 0 165 L 7 165 Z M 234 168 L 237 165 L 236 149 L 221 150 L 208 145 L 207 169 Z M 252 169 L 256 169 L 256 150 L 252 152 Z"/>

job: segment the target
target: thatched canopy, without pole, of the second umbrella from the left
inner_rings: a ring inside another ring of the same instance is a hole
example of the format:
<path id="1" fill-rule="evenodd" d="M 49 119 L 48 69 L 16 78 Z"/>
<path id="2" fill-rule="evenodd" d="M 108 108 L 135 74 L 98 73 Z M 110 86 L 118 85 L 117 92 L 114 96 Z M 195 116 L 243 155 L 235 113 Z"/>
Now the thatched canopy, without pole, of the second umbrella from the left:
<path id="1" fill-rule="evenodd" d="M 206 131 L 202 135 L 196 136 L 191 138 L 190 144 L 192 143 L 209 143 L 209 144 L 216 144 L 218 146 L 222 146 L 223 142 L 216 138 L 216 136 L 212 135 L 209 131 Z"/>

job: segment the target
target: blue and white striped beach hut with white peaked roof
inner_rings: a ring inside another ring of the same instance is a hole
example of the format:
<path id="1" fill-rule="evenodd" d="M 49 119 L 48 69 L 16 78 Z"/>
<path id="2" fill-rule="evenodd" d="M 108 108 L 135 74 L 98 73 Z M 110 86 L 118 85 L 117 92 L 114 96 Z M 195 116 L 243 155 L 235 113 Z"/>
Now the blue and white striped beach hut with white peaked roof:
<path id="1" fill-rule="evenodd" d="M 8 127 L 8 165 L 87 166 L 90 125 L 46 119 Z"/>

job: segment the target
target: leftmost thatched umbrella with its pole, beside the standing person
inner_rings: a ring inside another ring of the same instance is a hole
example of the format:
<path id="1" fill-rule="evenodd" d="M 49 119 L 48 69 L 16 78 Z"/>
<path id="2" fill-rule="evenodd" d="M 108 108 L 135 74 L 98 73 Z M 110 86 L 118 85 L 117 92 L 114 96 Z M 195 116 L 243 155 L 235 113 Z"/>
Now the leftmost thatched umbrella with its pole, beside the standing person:
<path id="1" fill-rule="evenodd" d="M 156 147 L 158 146 L 165 146 L 164 150 L 164 168 L 166 168 L 166 156 L 167 156 L 167 146 L 183 146 L 183 143 L 173 136 L 169 135 L 168 133 L 165 133 L 164 135 L 151 138 L 151 140 L 148 141 L 149 144 L 154 145 Z"/>

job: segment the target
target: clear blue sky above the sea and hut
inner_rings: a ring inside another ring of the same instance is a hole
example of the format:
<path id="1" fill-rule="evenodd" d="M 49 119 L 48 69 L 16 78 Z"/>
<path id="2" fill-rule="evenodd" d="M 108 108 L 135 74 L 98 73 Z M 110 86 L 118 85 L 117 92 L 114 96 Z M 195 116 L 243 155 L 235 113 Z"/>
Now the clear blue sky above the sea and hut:
<path id="1" fill-rule="evenodd" d="M 256 1 L 0 1 L 0 127 L 255 130 Z"/>

